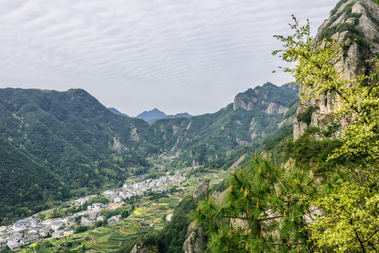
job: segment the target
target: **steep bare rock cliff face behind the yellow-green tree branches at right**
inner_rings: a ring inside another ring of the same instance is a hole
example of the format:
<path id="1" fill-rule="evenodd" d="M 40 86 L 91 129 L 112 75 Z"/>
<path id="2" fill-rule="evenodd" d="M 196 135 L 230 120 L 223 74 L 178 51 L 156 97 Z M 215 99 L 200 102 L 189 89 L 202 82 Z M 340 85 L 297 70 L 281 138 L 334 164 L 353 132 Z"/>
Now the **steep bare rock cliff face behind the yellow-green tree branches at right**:
<path id="1" fill-rule="evenodd" d="M 340 32 L 335 32 L 340 30 Z M 338 41 L 346 41 L 343 59 L 335 65 L 343 72 L 343 79 L 351 79 L 359 74 L 367 74 L 371 68 L 366 60 L 373 58 L 379 52 L 379 6 L 370 0 L 343 0 L 331 11 L 329 18 L 319 27 L 313 43 L 330 36 Z M 354 38 L 354 39 L 353 39 Z M 305 129 L 317 126 L 327 129 L 328 125 L 348 124 L 343 119 L 335 117 L 333 110 L 337 96 L 330 92 L 300 103 L 297 118 L 293 122 L 293 138 L 304 134 Z M 340 136 L 336 132 L 334 137 Z"/>

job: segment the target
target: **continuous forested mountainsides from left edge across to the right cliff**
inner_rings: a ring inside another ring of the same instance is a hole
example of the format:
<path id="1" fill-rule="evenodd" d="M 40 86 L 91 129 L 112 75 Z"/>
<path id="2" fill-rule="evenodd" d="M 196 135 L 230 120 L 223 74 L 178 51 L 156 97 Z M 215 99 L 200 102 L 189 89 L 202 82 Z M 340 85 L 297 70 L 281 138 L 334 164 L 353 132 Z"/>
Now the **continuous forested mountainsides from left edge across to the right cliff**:
<path id="1" fill-rule="evenodd" d="M 145 173 L 147 157 L 161 155 L 174 166 L 221 157 L 277 129 L 297 87 L 265 84 L 246 92 L 258 97 L 251 98 L 256 107 L 230 104 L 213 114 L 150 125 L 115 115 L 82 89 L 0 89 L 0 141 L 7 150 L 0 153 L 0 176 L 6 179 L 0 216 L 27 215 L 32 211 L 20 207 L 43 209 L 36 203 L 121 183 Z M 272 111 L 274 100 L 284 109 Z"/>

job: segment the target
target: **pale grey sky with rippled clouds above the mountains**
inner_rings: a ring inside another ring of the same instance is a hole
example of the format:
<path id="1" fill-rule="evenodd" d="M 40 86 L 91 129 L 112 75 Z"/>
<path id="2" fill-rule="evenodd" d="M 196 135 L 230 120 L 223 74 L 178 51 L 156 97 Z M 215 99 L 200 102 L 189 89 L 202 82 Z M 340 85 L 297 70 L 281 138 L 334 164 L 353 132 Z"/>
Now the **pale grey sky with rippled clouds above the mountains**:
<path id="1" fill-rule="evenodd" d="M 338 0 L 0 0 L 0 88 L 85 89 L 127 115 L 216 112 L 293 81 L 272 51 Z"/>

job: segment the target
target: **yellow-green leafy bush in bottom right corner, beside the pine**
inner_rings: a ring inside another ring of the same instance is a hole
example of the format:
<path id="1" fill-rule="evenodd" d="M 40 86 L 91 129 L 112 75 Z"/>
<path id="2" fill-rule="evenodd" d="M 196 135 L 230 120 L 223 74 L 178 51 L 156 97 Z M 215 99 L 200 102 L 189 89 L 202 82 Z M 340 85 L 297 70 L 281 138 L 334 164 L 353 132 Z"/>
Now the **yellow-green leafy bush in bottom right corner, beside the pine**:
<path id="1" fill-rule="evenodd" d="M 340 252 L 376 252 L 379 247 L 379 195 L 364 186 L 341 183 L 314 202 L 326 216 L 312 223 L 312 240 L 321 249 L 338 245 Z"/>

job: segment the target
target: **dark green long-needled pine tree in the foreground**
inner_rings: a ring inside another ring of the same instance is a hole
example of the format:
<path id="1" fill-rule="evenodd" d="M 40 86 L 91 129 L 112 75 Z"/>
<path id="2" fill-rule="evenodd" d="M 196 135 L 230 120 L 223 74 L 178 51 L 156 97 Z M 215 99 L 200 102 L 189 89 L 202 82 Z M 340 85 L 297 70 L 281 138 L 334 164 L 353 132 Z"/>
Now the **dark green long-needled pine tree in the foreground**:
<path id="1" fill-rule="evenodd" d="M 208 228 L 209 252 L 312 252 L 306 224 L 317 194 L 312 174 L 265 159 L 234 169 L 222 203 L 206 196 L 197 221 Z"/>

